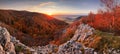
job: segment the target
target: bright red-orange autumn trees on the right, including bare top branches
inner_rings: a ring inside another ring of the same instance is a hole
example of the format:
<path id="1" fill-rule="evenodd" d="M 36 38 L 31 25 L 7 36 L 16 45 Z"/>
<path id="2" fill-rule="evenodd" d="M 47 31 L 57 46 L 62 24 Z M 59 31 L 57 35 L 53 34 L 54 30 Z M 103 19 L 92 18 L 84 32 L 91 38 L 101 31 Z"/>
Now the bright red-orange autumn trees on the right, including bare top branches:
<path id="1" fill-rule="evenodd" d="M 90 12 L 86 18 L 82 18 L 82 22 L 93 26 L 95 29 L 120 33 L 120 0 L 100 0 L 104 5 L 104 10 L 98 10 L 94 14 Z"/>

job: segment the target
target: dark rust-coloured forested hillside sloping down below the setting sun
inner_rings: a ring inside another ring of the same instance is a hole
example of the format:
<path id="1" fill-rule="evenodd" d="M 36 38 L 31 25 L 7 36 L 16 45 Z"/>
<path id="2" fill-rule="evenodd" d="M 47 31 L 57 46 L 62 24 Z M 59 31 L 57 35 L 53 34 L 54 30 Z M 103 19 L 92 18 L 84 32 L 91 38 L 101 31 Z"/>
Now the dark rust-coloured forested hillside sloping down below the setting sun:
<path id="1" fill-rule="evenodd" d="M 28 11 L 0 10 L 0 26 L 29 46 L 46 45 L 68 24 L 51 16 Z"/>

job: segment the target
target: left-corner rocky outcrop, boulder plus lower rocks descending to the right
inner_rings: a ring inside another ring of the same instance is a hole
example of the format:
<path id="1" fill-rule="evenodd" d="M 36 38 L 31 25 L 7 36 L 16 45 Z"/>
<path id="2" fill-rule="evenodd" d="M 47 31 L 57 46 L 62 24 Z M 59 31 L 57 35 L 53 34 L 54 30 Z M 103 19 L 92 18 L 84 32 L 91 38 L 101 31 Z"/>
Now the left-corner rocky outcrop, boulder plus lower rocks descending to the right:
<path id="1" fill-rule="evenodd" d="M 21 47 L 19 49 L 19 47 Z M 29 50 L 30 53 L 35 54 L 35 50 L 22 44 L 21 42 L 19 42 L 19 40 L 17 40 L 15 37 L 10 36 L 9 32 L 7 31 L 6 28 L 2 28 L 0 27 L 0 54 L 27 54 L 24 52 L 18 52 L 18 50 Z M 17 51 L 17 52 L 15 52 Z"/>

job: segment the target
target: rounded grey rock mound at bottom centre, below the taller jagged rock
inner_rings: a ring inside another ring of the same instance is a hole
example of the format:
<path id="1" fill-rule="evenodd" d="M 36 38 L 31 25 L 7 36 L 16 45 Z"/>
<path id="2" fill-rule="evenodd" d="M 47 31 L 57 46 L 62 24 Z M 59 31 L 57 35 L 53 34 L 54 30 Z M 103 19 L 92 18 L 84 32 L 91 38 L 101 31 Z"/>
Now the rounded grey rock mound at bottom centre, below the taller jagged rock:
<path id="1" fill-rule="evenodd" d="M 78 42 L 68 41 L 59 46 L 58 54 L 82 54 L 82 45 Z"/>

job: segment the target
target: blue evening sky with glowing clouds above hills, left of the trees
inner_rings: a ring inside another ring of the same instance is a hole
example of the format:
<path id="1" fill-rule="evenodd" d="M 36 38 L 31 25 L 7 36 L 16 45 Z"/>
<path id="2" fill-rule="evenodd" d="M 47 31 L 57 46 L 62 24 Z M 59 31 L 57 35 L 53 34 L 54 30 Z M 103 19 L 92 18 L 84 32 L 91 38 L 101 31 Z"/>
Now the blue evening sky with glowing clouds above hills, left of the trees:
<path id="1" fill-rule="evenodd" d="M 0 9 L 27 10 L 49 15 L 96 13 L 99 0 L 0 0 Z"/>

